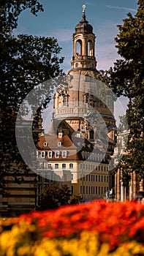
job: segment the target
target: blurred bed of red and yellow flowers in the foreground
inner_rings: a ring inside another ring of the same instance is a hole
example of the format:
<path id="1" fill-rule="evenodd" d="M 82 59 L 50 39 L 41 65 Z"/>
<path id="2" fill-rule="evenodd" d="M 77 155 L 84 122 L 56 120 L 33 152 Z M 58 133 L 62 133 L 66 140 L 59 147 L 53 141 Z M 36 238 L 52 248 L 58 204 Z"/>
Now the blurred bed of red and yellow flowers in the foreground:
<path id="1" fill-rule="evenodd" d="M 1 256 L 144 255 L 144 206 L 95 201 L 0 221 Z"/>

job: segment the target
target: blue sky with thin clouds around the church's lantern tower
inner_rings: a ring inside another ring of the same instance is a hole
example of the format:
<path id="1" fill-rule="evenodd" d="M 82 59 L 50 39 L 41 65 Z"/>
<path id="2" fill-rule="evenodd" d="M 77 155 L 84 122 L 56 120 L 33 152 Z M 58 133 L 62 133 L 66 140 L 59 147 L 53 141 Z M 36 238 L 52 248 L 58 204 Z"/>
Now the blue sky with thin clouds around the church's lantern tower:
<path id="1" fill-rule="evenodd" d="M 86 19 L 96 34 L 97 69 L 108 69 L 118 59 L 114 38 L 118 34 L 117 26 L 122 24 L 126 14 L 134 15 L 137 0 L 41 0 L 44 12 L 37 17 L 26 10 L 18 20 L 15 33 L 56 37 L 61 46 L 61 56 L 65 57 L 62 68 L 70 69 L 72 59 L 72 34 L 82 17 L 82 6 L 86 4 Z"/>

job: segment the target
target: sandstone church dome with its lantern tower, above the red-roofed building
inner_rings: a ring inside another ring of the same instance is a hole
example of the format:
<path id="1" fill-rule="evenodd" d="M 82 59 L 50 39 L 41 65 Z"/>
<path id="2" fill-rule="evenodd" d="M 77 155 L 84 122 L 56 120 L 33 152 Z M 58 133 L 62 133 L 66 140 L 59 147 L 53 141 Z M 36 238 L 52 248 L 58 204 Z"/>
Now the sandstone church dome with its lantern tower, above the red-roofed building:
<path id="1" fill-rule="evenodd" d="M 91 142 L 95 141 L 100 123 L 101 127 L 106 126 L 112 140 L 115 126 L 113 99 L 102 99 L 101 91 L 105 86 L 96 79 L 99 72 L 96 70 L 95 38 L 83 6 L 82 20 L 73 34 L 72 69 L 64 81 L 67 86 L 59 86 L 54 96 L 53 110 L 53 118 L 64 119 L 79 136 Z"/>

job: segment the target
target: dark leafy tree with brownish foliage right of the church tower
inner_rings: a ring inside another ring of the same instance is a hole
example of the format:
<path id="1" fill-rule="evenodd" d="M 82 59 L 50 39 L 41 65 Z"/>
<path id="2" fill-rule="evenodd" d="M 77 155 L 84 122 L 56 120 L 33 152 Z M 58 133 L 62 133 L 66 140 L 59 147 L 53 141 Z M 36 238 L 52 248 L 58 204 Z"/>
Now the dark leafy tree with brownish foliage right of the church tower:
<path id="1" fill-rule="evenodd" d="M 102 79 L 118 96 L 129 98 L 126 112 L 129 140 L 119 163 L 125 180 L 129 180 L 133 171 L 140 179 L 144 178 L 144 2 L 139 0 L 137 4 L 137 13 L 134 16 L 129 13 L 123 25 L 118 25 L 115 41 L 122 59 L 115 62 L 113 69 L 101 72 Z"/>

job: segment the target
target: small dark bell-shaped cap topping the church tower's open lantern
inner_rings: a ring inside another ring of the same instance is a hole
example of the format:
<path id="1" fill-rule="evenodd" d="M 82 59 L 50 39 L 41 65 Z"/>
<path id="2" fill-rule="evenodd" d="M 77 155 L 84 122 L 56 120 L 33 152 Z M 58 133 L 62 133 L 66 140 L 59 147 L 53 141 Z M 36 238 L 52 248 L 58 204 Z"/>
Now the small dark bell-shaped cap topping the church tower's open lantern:
<path id="1" fill-rule="evenodd" d="M 88 24 L 85 13 L 83 14 L 82 20 L 80 20 L 80 23 L 78 23 L 77 26 L 75 26 L 75 34 L 77 33 L 93 33 L 93 27 L 90 24 Z"/>

